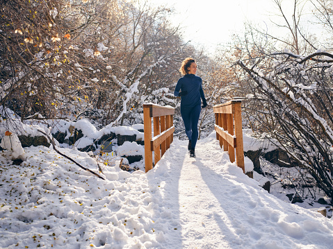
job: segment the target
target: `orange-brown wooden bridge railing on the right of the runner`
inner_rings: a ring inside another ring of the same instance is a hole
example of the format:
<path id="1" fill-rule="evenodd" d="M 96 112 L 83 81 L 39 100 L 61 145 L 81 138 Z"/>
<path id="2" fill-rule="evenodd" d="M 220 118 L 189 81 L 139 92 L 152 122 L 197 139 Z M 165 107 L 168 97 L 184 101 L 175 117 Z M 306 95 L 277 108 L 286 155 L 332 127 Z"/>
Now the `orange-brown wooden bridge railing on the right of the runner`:
<path id="1" fill-rule="evenodd" d="M 213 110 L 216 119 L 216 139 L 220 141 L 220 147 L 223 146 L 224 151 L 229 152 L 231 162 L 235 162 L 236 148 L 236 164 L 245 173 L 241 101 L 233 100 L 214 105 Z"/>

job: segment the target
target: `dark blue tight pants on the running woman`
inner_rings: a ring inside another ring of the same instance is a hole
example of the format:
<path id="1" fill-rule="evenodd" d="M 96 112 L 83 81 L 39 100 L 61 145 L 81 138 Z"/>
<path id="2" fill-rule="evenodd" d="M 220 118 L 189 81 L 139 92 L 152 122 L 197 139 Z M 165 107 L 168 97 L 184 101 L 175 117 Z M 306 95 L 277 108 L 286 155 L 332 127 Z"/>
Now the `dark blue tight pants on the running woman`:
<path id="1" fill-rule="evenodd" d="M 201 105 L 195 105 L 193 108 L 187 108 L 184 106 L 180 107 L 181 117 L 184 121 L 185 132 L 189 140 L 191 140 L 192 149 L 197 144 L 197 123 L 199 122 L 201 112 Z"/>

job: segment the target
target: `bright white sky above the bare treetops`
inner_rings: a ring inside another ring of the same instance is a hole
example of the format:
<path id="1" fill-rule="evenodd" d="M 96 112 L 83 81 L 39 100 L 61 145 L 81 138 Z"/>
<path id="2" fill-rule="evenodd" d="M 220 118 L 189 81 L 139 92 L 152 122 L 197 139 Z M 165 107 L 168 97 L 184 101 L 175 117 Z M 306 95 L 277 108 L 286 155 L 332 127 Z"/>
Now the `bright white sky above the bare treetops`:
<path id="1" fill-rule="evenodd" d="M 235 32 L 243 31 L 244 22 L 270 26 L 272 13 L 277 13 L 273 0 L 150 0 L 156 5 L 174 6 L 178 15 L 174 24 L 184 26 L 184 38 L 193 44 L 204 44 L 211 52 L 217 44 L 230 41 Z M 291 16 L 293 1 L 282 6 Z M 276 18 L 276 17 L 275 17 Z"/>

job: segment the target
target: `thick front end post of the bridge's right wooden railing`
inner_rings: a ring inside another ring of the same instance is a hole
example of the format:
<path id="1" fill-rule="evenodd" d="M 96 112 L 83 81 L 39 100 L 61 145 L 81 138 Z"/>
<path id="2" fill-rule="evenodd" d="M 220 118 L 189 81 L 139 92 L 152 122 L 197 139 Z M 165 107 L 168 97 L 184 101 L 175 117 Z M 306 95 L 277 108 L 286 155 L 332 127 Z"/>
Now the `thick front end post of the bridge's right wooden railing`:
<path id="1" fill-rule="evenodd" d="M 242 111 L 241 111 L 241 102 L 234 103 L 235 108 L 235 135 L 236 135 L 236 163 L 237 166 L 243 169 L 245 173 L 244 166 L 244 151 L 243 151 L 243 130 L 242 130 Z"/>

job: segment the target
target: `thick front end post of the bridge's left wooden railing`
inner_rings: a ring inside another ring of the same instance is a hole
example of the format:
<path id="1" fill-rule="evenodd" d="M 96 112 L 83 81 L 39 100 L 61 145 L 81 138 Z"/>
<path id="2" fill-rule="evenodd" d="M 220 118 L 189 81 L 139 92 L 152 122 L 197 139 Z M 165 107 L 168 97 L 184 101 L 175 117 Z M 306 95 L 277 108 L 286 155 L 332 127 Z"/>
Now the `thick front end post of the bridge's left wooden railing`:
<path id="1" fill-rule="evenodd" d="M 150 118 L 149 108 L 143 108 L 143 129 L 145 137 L 145 171 L 146 173 L 153 168 L 152 148 L 149 141 L 152 140 L 152 119 Z"/>

